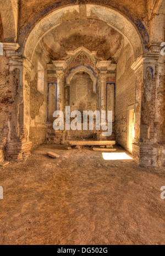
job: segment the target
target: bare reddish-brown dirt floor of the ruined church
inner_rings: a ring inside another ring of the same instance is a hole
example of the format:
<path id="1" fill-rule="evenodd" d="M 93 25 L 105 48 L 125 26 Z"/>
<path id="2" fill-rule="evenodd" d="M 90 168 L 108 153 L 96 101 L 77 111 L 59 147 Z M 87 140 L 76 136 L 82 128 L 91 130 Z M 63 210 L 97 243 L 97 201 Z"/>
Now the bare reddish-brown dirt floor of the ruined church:
<path id="1" fill-rule="evenodd" d="M 89 148 L 41 145 L 0 168 L 0 244 L 165 244 L 164 174 Z"/>

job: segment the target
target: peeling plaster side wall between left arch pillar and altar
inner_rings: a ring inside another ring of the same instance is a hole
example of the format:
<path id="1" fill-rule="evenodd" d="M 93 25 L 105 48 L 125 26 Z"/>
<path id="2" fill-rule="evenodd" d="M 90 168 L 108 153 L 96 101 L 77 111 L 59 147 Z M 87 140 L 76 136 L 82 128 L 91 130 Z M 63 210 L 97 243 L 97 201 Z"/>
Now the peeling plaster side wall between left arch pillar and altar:
<path id="1" fill-rule="evenodd" d="M 32 147 L 42 144 L 46 139 L 47 122 L 47 56 L 39 44 L 32 60 L 31 72 L 26 72 L 25 80 L 30 87 L 30 129 L 29 139 Z M 43 67 L 43 92 L 38 90 L 38 62 Z"/>

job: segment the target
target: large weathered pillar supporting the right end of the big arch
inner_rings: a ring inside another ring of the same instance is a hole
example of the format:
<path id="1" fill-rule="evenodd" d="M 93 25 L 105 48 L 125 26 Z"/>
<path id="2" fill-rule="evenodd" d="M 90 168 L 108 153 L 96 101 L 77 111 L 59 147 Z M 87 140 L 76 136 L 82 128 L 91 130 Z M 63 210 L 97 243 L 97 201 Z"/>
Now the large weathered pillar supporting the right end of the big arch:
<path id="1" fill-rule="evenodd" d="M 135 87 L 135 143 L 133 155 L 141 166 L 157 165 L 155 134 L 156 63 L 160 53 L 141 55 L 133 64 Z"/>

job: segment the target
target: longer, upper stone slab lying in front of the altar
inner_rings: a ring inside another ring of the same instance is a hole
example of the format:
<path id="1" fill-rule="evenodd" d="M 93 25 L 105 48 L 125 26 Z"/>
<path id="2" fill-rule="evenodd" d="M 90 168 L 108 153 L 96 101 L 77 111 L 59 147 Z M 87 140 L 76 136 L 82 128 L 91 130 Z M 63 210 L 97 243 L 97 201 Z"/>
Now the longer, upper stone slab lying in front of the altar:
<path id="1" fill-rule="evenodd" d="M 106 146 L 106 145 L 115 145 L 115 140 L 75 140 L 69 141 L 70 146 Z"/>

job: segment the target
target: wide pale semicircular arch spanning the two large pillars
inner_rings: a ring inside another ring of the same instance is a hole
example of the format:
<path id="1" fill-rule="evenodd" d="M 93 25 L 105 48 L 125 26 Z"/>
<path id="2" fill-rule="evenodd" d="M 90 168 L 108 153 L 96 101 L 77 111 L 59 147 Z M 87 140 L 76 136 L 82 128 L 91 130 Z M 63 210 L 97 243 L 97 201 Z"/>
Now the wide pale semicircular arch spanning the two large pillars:
<path id="1" fill-rule="evenodd" d="M 78 18 L 102 20 L 116 29 L 129 41 L 135 59 L 147 51 L 145 44 L 148 42 L 148 36 L 144 26 L 141 26 L 141 29 L 144 29 L 144 33 L 140 33 L 138 27 L 129 18 L 126 18 L 125 15 L 122 15 L 118 11 L 103 6 L 87 4 L 84 6 L 75 5 L 64 7 L 48 14 L 36 24 L 27 38 L 26 31 L 23 31 L 20 36 L 19 44 L 24 57 L 32 60 L 36 46 L 43 36 L 65 20 Z"/>

